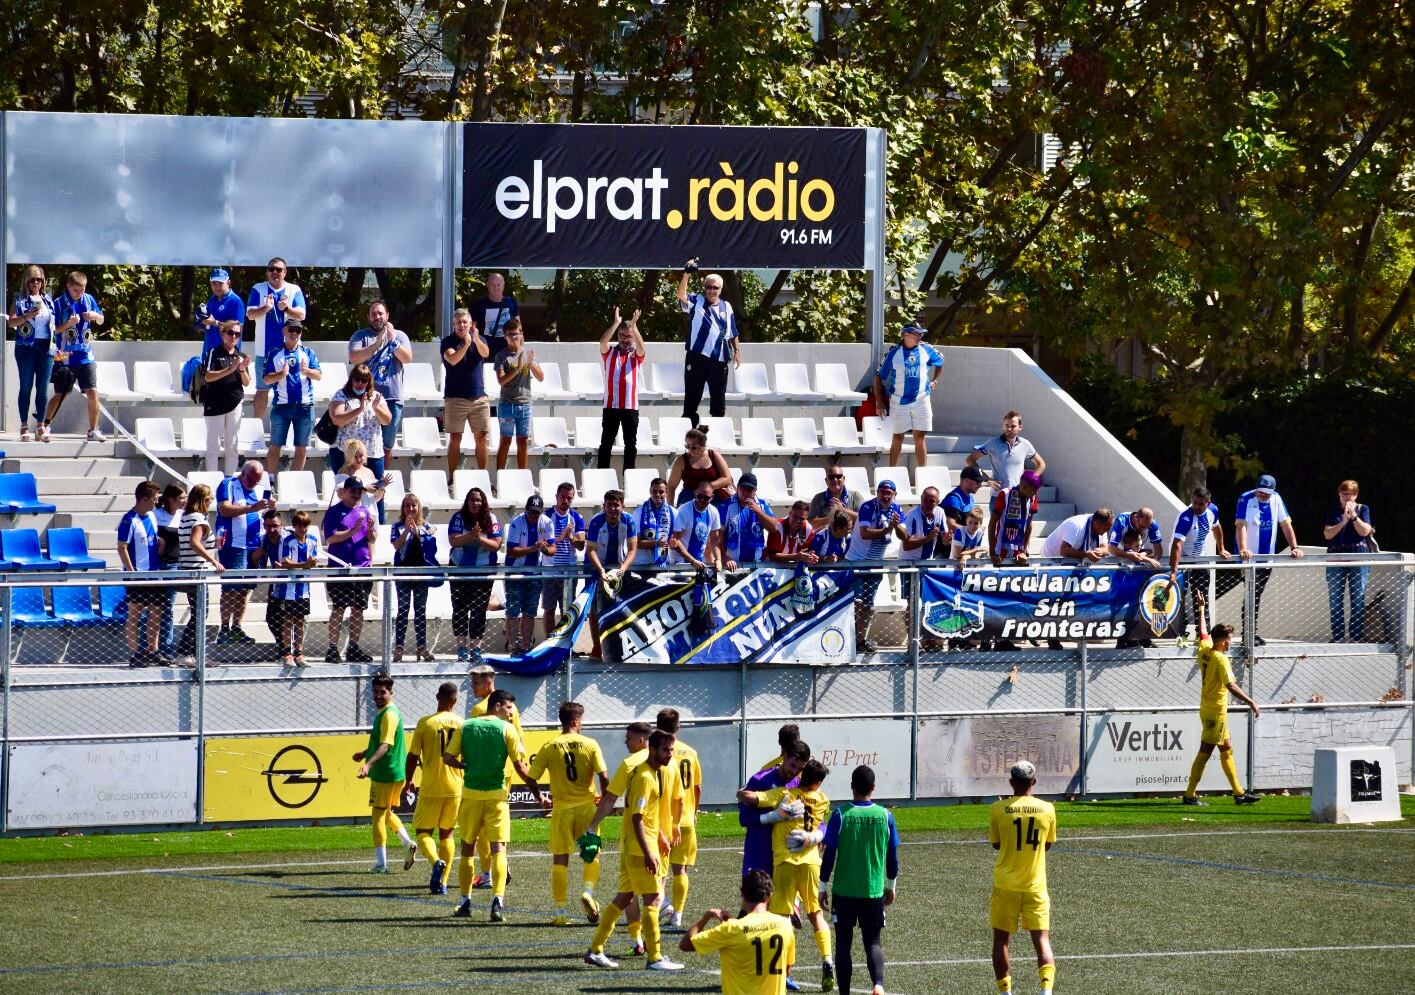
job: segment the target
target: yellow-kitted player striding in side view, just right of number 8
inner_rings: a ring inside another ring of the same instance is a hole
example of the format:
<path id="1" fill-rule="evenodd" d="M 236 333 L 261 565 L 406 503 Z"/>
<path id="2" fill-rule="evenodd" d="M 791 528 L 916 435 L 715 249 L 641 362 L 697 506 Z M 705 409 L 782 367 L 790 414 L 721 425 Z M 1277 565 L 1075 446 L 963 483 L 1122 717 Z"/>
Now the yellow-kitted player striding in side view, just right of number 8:
<path id="1" fill-rule="evenodd" d="M 606 914 L 594 940 L 584 953 L 584 962 L 616 968 L 618 962 L 604 953 L 604 944 L 614 933 L 618 914 L 638 899 L 642 903 L 644 948 L 649 971 L 682 971 L 683 965 L 664 957 L 658 933 L 658 870 L 668 856 L 668 836 L 664 834 L 662 795 L 674 784 L 668 766 L 674 760 L 674 737 L 655 730 L 648 737 L 648 760 L 634 769 L 624 795 L 624 828 L 620 832 L 618 893 Z"/>

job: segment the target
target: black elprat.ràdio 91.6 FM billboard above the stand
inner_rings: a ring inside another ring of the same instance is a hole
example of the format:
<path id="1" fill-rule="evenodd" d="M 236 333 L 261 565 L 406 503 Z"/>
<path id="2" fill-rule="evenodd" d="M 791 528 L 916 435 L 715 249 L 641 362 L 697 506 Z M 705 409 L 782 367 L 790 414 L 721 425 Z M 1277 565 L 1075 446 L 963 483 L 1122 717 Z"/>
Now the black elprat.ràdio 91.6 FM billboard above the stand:
<path id="1" fill-rule="evenodd" d="M 865 129 L 463 129 L 463 266 L 865 266 Z"/>

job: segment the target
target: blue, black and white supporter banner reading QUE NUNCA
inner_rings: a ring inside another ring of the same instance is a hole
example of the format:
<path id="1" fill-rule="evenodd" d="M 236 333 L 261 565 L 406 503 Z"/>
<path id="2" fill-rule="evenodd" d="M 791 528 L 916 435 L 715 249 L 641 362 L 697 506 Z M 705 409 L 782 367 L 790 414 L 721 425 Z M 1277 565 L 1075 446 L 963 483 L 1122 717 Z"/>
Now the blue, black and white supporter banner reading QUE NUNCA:
<path id="1" fill-rule="evenodd" d="M 850 573 L 751 570 L 730 583 L 628 575 L 600 613 L 604 660 L 831 664 L 855 647 Z"/>

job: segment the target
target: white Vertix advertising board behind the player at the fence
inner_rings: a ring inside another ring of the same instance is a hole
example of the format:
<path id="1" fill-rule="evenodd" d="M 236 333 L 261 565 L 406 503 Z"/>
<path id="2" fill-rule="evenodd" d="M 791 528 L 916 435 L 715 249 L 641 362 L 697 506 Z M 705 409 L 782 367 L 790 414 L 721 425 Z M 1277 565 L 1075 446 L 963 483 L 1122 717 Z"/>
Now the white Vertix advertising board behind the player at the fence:
<path id="1" fill-rule="evenodd" d="M 1101 715 L 1087 730 L 1085 790 L 1183 791 L 1199 753 L 1199 711 Z M 1228 713 L 1228 736 L 1238 770 L 1248 764 L 1248 712 Z M 1218 750 L 1208 759 L 1200 791 L 1228 791 Z"/>

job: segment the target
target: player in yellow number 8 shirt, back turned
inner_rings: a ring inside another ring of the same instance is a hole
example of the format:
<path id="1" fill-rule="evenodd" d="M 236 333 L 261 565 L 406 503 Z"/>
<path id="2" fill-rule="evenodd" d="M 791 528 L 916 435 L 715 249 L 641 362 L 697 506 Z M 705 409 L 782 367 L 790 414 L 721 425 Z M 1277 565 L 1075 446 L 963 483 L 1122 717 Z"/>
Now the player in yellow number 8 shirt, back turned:
<path id="1" fill-rule="evenodd" d="M 555 924 L 569 926 L 570 911 L 566 899 L 570 893 L 570 853 L 579 852 L 576 841 L 584 835 L 594 819 L 599 797 L 594 778 L 600 781 L 600 793 L 608 787 L 608 771 L 600 744 L 580 735 L 584 706 L 577 702 L 560 705 L 560 735 L 536 750 L 531 760 L 531 776 L 550 781 L 550 897 L 555 900 Z M 600 880 L 600 858 L 584 865 L 584 892 L 580 904 L 590 923 L 600 921 L 600 909 L 594 902 L 594 886 Z"/>

